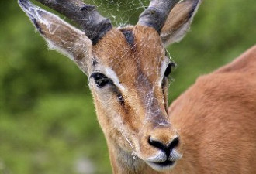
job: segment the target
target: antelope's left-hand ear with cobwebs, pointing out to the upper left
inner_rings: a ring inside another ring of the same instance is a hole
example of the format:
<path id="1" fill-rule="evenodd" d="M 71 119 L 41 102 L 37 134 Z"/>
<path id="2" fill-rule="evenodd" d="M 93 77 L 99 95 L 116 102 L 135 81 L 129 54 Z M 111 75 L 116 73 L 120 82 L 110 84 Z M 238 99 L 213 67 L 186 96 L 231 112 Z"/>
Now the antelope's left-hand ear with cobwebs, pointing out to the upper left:
<path id="1" fill-rule="evenodd" d="M 69 57 L 78 67 L 88 74 L 88 65 L 92 60 L 92 41 L 85 32 L 74 28 L 57 15 L 47 12 L 31 2 L 19 0 L 19 5 L 33 22 L 40 35 L 55 49 Z"/>

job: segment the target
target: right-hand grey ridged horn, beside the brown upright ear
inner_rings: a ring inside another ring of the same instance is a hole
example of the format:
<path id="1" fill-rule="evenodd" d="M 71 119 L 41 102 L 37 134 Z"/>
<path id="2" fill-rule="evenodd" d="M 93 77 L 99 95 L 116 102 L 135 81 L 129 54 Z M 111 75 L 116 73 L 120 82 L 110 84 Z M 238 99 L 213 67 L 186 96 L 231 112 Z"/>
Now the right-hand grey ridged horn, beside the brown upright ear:
<path id="1" fill-rule="evenodd" d="M 171 9 L 178 1 L 179 0 L 151 0 L 148 8 L 140 15 L 138 24 L 151 26 L 160 33 Z"/>

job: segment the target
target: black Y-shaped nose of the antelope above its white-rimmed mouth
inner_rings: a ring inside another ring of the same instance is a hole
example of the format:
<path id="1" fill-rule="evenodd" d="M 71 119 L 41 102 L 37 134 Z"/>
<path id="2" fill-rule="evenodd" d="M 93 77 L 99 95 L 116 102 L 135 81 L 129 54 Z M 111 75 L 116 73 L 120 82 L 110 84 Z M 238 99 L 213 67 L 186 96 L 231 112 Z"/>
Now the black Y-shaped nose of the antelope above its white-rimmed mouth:
<path id="1" fill-rule="evenodd" d="M 166 155 L 170 155 L 171 154 L 171 150 L 173 148 L 176 148 L 179 144 L 179 138 L 173 138 L 167 145 L 163 142 L 161 142 L 160 140 L 154 139 L 154 138 L 148 138 L 148 143 L 152 146 L 154 146 L 155 148 L 159 148 L 160 150 L 164 151 L 166 153 Z"/>

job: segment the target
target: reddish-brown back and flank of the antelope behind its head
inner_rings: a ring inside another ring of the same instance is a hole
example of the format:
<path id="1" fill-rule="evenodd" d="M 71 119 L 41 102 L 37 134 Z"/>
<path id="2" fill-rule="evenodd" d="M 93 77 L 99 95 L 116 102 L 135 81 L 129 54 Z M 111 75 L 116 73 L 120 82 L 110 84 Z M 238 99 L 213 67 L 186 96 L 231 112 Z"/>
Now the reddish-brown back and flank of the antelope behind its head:
<path id="1" fill-rule="evenodd" d="M 256 173 L 256 46 L 199 77 L 169 114 L 184 152 L 170 173 Z"/>

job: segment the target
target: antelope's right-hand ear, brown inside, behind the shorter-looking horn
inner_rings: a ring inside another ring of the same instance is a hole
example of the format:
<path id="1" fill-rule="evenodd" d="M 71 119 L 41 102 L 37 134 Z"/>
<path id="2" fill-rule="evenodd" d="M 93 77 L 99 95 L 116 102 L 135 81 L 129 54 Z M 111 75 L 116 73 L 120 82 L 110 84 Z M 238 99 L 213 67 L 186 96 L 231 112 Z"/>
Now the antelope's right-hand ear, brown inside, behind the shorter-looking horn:
<path id="1" fill-rule="evenodd" d="M 182 40 L 201 2 L 201 0 L 182 0 L 175 5 L 161 30 L 164 46 Z"/>

